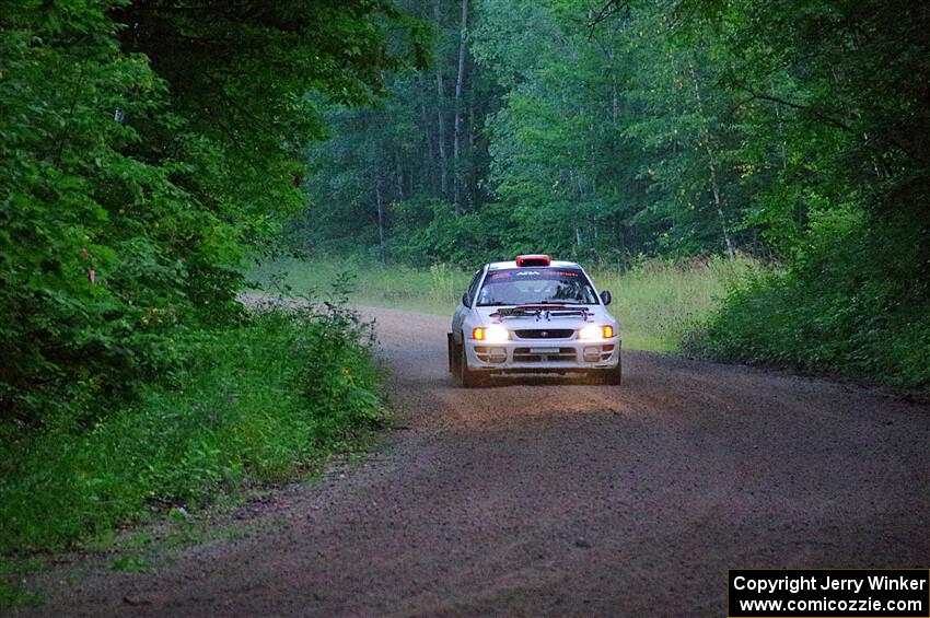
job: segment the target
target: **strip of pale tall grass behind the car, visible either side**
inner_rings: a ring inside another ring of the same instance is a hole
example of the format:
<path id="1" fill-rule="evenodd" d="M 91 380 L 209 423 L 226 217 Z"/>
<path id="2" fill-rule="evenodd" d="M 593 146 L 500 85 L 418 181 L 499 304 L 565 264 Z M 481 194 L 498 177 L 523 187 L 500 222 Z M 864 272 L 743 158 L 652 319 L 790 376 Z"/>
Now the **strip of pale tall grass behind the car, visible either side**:
<path id="1" fill-rule="evenodd" d="M 600 290 L 614 295 L 611 311 L 620 320 L 625 348 L 675 352 L 683 337 L 720 306 L 728 287 L 755 268 L 748 258 L 710 257 L 643 259 L 624 270 L 602 266 L 589 271 Z M 325 289 L 346 271 L 354 276 L 353 303 L 449 316 L 473 275 L 446 265 L 283 259 L 256 266 L 251 277 L 267 290 L 306 294 Z"/>

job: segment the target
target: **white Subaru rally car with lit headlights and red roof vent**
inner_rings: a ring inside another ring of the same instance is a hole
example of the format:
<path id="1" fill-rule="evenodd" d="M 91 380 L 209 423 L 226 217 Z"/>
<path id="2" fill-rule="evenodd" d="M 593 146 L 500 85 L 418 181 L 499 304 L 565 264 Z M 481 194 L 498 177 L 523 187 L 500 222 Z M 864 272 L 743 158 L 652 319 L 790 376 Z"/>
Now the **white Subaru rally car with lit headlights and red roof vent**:
<path id="1" fill-rule="evenodd" d="M 584 269 L 547 255 L 486 264 L 447 335 L 449 371 L 466 387 L 504 373 L 576 373 L 619 384 L 620 327 Z"/>

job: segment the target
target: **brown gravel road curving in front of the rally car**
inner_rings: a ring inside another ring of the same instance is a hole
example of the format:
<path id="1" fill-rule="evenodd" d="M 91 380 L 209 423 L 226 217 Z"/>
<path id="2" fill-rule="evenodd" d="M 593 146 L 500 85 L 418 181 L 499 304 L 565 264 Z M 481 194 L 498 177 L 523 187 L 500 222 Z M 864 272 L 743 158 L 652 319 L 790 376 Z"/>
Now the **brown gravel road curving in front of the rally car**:
<path id="1" fill-rule="evenodd" d="M 449 320 L 372 310 L 398 428 L 245 538 L 53 570 L 69 616 L 723 616 L 730 567 L 930 562 L 930 410 L 627 352 L 623 386 L 457 388 Z"/>

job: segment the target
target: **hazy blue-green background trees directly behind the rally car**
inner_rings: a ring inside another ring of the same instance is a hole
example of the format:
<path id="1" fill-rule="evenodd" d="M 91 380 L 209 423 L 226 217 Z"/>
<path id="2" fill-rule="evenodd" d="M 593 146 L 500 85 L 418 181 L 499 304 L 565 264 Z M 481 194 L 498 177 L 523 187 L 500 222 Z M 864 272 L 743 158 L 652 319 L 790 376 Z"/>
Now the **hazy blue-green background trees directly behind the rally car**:
<path id="1" fill-rule="evenodd" d="M 460 162 L 467 208 L 447 217 L 430 206 L 453 201 L 441 189 L 442 173 L 454 172 L 442 159 L 453 115 L 432 71 L 404 73 L 382 110 L 338 110 L 336 139 L 311 154 L 318 206 L 298 234 L 302 248 L 333 253 L 350 233 L 373 246 L 383 234 L 377 255 L 415 265 L 519 250 L 613 261 L 719 252 L 723 230 L 737 245 L 753 241 L 731 198 L 741 178 L 731 151 L 745 136 L 726 129 L 732 101 L 713 89 L 712 50 L 676 46 L 667 7 L 639 7 L 595 30 L 580 0 L 473 9 Z M 460 24 L 437 25 L 435 69 L 446 77 L 457 58 L 443 42 Z M 379 195 L 391 203 L 381 218 Z"/>

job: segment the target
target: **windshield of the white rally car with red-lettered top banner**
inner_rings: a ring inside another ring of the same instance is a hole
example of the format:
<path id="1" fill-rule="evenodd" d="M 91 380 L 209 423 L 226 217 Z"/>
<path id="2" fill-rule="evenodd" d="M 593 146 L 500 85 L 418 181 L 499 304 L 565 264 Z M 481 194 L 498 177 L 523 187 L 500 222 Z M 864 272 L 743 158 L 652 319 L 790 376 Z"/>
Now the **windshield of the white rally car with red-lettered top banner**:
<path id="1" fill-rule="evenodd" d="M 578 268 L 508 268 L 491 270 L 478 292 L 478 306 L 554 303 L 594 305 L 597 295 Z"/>

